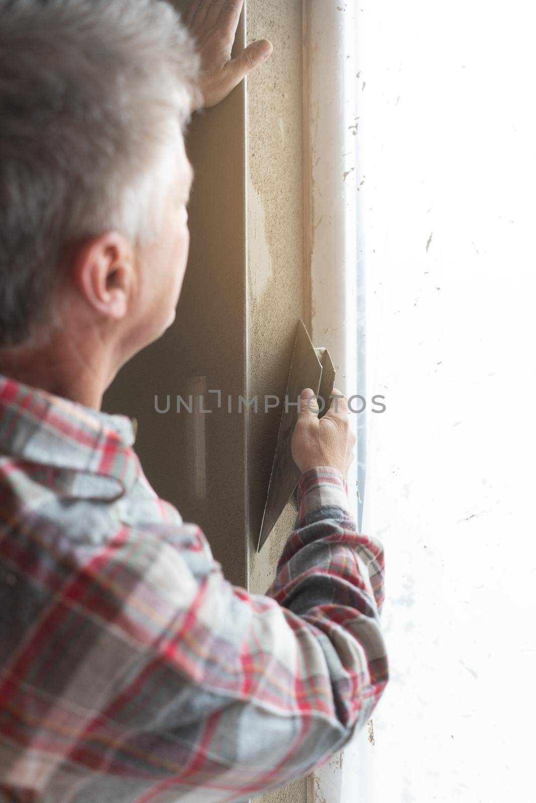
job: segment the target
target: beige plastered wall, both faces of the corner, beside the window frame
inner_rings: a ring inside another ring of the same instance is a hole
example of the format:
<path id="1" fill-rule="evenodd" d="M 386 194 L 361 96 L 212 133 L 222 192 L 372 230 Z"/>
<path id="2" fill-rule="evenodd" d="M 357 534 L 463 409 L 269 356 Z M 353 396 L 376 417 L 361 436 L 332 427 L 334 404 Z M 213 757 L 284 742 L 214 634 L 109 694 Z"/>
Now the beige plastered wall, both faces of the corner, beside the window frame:
<path id="1" fill-rule="evenodd" d="M 272 41 L 272 57 L 247 90 L 196 116 L 187 137 L 195 181 L 177 320 L 121 371 L 104 409 L 138 419 L 137 453 L 155 489 L 203 527 L 232 582 L 264 593 L 293 526 L 288 507 L 256 554 L 280 410 L 264 414 L 261 404 L 248 422 L 212 397 L 211 414 L 174 412 L 175 395 L 203 383 L 233 402 L 284 397 L 297 320 L 307 316 L 301 0 L 249 0 L 247 31 L 248 42 Z M 243 19 L 237 48 L 245 39 Z M 165 404 L 168 393 L 171 410 L 158 414 L 154 395 Z M 305 803 L 306 780 L 262 799 Z"/>

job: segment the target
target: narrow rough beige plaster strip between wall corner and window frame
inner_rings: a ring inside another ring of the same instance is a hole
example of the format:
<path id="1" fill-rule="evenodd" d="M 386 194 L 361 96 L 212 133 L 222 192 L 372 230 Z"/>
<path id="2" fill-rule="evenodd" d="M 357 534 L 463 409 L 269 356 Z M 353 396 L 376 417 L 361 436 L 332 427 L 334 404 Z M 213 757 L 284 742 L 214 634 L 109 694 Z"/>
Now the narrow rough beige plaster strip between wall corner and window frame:
<path id="1" fill-rule="evenodd" d="M 248 391 L 283 402 L 296 324 L 305 317 L 301 0 L 248 0 L 247 38 L 270 39 L 273 53 L 248 78 Z M 281 408 L 249 418 L 249 587 L 272 581 L 295 513 L 287 506 L 260 554 L 256 545 Z M 256 800 L 305 803 L 306 779 Z"/>

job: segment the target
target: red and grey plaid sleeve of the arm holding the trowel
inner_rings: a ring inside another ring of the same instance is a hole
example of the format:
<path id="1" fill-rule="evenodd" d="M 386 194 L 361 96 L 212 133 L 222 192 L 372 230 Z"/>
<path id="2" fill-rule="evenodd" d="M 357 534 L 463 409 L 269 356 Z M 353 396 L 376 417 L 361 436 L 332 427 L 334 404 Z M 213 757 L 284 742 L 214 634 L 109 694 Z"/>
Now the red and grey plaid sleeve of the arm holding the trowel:
<path id="1" fill-rule="evenodd" d="M 341 472 L 307 471 L 298 498 L 264 595 L 226 580 L 194 524 L 145 533 L 138 548 L 129 538 L 129 590 L 110 626 L 135 650 L 101 714 L 111 764 L 142 772 L 152 792 L 231 801 L 302 777 L 386 687 L 382 544 L 356 532 Z"/>

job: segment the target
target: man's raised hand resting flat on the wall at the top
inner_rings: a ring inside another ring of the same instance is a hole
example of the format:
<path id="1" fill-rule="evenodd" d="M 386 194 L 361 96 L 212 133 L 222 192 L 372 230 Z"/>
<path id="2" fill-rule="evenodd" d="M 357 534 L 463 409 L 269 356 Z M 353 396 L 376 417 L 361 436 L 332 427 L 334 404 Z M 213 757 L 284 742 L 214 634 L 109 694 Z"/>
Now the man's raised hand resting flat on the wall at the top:
<path id="1" fill-rule="evenodd" d="M 203 96 L 202 106 L 218 104 L 240 83 L 244 75 L 258 67 L 272 53 L 272 44 L 268 39 L 259 39 L 231 59 L 242 6 L 243 0 L 194 0 L 190 6 L 186 25 L 197 41 L 201 57 L 199 89 Z"/>

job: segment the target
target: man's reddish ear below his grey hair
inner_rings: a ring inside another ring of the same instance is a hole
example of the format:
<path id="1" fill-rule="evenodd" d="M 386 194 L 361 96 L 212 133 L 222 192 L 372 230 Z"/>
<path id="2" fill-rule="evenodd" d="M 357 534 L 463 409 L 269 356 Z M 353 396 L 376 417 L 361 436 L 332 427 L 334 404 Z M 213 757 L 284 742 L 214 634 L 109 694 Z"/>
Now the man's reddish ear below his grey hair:
<path id="1" fill-rule="evenodd" d="M 96 312 L 115 320 L 125 317 L 136 275 L 133 249 L 123 234 L 107 231 L 85 240 L 72 269 L 78 290 Z"/>

